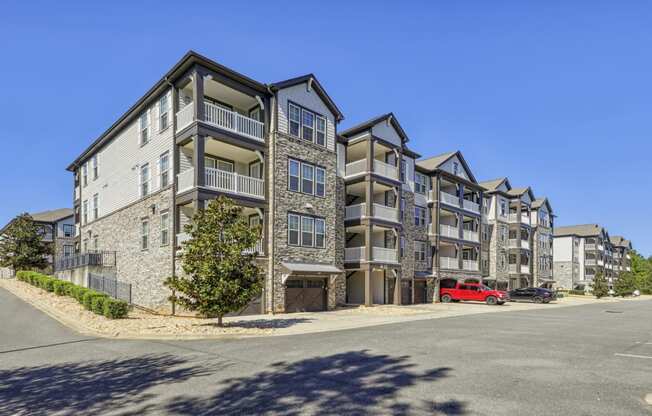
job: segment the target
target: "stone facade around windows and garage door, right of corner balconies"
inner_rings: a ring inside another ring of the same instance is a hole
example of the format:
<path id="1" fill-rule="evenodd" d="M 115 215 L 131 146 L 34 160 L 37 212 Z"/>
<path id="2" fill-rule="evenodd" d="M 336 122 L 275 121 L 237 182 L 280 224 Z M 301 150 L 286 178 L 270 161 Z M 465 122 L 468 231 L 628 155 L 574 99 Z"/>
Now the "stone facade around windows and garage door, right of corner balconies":
<path id="1" fill-rule="evenodd" d="M 282 262 L 321 263 L 334 265 L 340 269 L 344 263 L 344 253 L 338 248 L 344 247 L 343 205 L 344 200 L 338 194 L 337 156 L 335 152 L 321 146 L 313 145 L 289 137 L 282 133 L 274 135 L 274 155 L 270 158 L 273 167 L 273 193 L 271 201 L 274 210 L 274 224 L 271 238 L 274 240 L 274 254 L 271 259 L 272 269 L 268 274 L 268 293 L 275 312 L 285 310 L 285 285 L 281 276 L 284 272 Z M 326 197 L 321 198 L 288 190 L 288 159 L 299 159 L 326 169 Z M 343 190 L 340 190 L 343 192 Z M 312 209 L 306 206 L 310 204 Z M 288 212 L 309 214 L 322 217 L 326 222 L 326 248 L 305 248 L 288 245 Z M 339 222 L 338 222 L 339 221 Z M 341 231 L 338 233 L 338 227 Z M 328 308 L 344 303 L 346 282 L 344 274 L 329 278 Z M 274 287 L 273 299 L 271 287 Z M 271 304 L 269 304 L 271 305 Z"/>

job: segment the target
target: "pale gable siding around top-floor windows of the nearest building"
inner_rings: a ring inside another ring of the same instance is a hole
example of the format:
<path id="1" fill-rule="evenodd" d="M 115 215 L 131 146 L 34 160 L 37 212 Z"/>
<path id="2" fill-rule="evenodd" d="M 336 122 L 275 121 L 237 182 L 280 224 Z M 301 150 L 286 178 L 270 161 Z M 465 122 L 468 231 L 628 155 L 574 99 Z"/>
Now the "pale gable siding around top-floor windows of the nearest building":
<path id="1" fill-rule="evenodd" d="M 328 109 L 314 88 L 308 91 L 308 83 L 293 85 L 278 92 L 278 129 L 288 133 L 288 100 L 326 117 L 326 147 L 335 151 L 335 115 Z"/>

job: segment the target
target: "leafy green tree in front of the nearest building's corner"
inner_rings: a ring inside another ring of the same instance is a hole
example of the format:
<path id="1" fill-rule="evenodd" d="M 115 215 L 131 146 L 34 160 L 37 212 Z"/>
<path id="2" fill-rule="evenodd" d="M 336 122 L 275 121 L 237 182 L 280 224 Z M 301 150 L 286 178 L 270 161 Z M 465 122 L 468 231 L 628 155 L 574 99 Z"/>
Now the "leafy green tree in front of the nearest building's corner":
<path id="1" fill-rule="evenodd" d="M 183 244 L 181 260 L 186 276 L 170 277 L 174 292 L 170 301 L 206 317 L 222 317 L 245 307 L 262 290 L 257 253 L 251 248 L 260 239 L 242 208 L 224 196 L 199 210 L 185 227 L 190 239 Z"/>

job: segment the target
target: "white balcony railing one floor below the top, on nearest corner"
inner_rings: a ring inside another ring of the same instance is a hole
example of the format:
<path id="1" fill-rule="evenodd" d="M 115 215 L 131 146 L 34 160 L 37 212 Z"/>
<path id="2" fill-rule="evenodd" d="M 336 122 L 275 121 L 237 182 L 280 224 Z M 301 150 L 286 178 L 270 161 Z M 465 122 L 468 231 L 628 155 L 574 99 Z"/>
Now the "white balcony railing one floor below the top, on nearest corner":
<path id="1" fill-rule="evenodd" d="M 177 175 L 177 192 L 194 187 L 194 169 L 187 169 Z M 252 176 L 240 175 L 225 170 L 205 168 L 204 187 L 253 198 L 265 198 L 265 181 Z"/>

